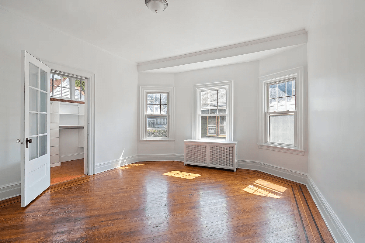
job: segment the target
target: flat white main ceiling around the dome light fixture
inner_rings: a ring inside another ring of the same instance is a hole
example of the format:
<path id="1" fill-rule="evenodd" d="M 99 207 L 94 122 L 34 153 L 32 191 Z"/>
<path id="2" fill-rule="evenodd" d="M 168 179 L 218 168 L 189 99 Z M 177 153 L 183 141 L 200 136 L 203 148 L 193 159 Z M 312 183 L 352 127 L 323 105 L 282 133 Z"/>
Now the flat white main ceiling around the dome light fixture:
<path id="1" fill-rule="evenodd" d="M 22 16 L 136 63 L 306 28 L 315 0 L 0 0 Z"/>

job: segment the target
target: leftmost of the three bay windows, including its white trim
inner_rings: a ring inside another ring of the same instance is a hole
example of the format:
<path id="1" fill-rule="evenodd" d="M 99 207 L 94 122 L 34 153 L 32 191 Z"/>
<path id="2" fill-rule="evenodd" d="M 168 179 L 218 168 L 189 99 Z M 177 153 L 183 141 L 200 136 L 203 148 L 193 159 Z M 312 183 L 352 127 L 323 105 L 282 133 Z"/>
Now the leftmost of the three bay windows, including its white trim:
<path id="1" fill-rule="evenodd" d="M 173 88 L 141 87 L 140 142 L 173 142 Z"/>

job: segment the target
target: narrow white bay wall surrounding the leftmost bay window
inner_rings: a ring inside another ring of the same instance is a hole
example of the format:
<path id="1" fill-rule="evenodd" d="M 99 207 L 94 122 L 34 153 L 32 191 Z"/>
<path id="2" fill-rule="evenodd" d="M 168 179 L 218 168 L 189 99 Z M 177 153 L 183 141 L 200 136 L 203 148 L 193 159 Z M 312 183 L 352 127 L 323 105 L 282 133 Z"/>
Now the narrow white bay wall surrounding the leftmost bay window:
<path id="1" fill-rule="evenodd" d="M 174 87 L 174 74 L 159 74 L 159 73 L 149 73 L 149 72 L 139 72 L 138 73 L 138 122 L 140 121 L 140 92 L 139 88 L 141 86 L 160 86 L 160 87 Z M 176 111 L 175 111 L 176 112 Z M 176 125 L 175 125 L 176 130 Z M 138 126 L 138 140 L 139 140 L 139 126 Z M 139 143 L 138 142 L 138 154 L 174 154 L 174 144 L 173 143 Z M 155 157 L 155 156 L 154 156 Z M 143 158 L 146 159 L 146 158 Z"/>

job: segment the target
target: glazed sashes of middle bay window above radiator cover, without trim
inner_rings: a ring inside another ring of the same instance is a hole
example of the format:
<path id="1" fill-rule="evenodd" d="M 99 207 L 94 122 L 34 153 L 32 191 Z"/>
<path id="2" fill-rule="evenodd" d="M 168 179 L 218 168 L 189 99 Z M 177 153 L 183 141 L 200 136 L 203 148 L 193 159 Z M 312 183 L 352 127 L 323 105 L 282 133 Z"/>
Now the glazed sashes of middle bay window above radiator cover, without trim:
<path id="1" fill-rule="evenodd" d="M 227 89 L 199 91 L 200 139 L 226 140 Z"/>

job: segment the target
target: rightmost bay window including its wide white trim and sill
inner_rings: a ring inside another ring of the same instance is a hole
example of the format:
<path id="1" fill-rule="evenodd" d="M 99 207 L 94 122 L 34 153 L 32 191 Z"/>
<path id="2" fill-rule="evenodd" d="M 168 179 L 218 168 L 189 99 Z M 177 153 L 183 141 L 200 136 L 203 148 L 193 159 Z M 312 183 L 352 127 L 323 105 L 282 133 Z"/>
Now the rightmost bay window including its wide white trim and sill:
<path id="1" fill-rule="evenodd" d="M 261 77 L 260 90 L 259 148 L 303 155 L 302 68 Z"/>

